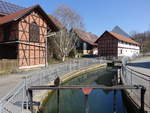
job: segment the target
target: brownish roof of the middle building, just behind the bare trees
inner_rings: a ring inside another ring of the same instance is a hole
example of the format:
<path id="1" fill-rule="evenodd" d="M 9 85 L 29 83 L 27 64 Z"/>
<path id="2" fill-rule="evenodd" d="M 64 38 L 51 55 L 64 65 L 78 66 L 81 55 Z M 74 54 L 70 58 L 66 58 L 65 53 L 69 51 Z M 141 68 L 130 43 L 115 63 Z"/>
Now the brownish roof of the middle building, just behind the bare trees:
<path id="1" fill-rule="evenodd" d="M 77 34 L 77 36 L 84 42 L 96 46 L 97 44 L 95 43 L 95 41 L 98 39 L 98 36 L 89 33 L 89 32 L 85 32 L 81 29 L 73 29 L 73 31 Z"/>

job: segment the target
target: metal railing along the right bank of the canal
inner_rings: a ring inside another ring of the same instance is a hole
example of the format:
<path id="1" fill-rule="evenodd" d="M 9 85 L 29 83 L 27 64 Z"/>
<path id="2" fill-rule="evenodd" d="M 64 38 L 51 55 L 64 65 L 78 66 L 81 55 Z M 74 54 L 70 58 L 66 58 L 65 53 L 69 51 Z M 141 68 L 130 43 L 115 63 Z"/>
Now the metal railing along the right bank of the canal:
<path id="1" fill-rule="evenodd" d="M 146 88 L 145 92 L 145 108 L 150 109 L 150 75 L 146 75 L 130 69 L 127 66 L 122 67 L 122 81 L 125 85 L 142 85 Z M 131 98 L 140 106 L 139 90 L 127 90 Z"/>

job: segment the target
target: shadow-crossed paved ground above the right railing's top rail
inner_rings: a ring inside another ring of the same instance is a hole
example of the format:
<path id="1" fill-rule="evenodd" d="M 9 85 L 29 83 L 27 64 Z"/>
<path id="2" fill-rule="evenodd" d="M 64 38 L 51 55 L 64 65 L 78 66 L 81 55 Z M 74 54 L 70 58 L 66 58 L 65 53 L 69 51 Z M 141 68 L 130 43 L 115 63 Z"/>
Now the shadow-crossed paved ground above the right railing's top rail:
<path id="1" fill-rule="evenodd" d="M 128 67 L 146 75 L 150 76 L 150 56 L 137 58 L 136 60 L 130 62 Z"/>

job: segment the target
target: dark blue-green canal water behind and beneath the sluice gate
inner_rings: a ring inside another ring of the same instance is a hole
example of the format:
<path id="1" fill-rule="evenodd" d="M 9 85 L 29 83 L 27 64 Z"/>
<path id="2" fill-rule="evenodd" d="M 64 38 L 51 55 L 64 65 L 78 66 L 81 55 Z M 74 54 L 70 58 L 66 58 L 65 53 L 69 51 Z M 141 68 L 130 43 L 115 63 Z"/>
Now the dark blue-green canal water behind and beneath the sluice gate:
<path id="1" fill-rule="evenodd" d="M 112 79 L 116 72 L 106 69 L 92 71 L 64 84 L 71 85 L 112 85 Z M 115 105 L 114 105 L 115 103 Z M 123 104 L 122 92 L 116 91 L 114 99 L 113 90 L 93 90 L 88 96 L 89 113 L 127 113 Z M 115 112 L 116 111 L 116 112 Z M 57 113 L 57 93 L 49 94 L 43 104 L 42 113 Z M 60 90 L 60 113 L 85 113 L 85 96 L 82 90 Z"/>

